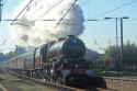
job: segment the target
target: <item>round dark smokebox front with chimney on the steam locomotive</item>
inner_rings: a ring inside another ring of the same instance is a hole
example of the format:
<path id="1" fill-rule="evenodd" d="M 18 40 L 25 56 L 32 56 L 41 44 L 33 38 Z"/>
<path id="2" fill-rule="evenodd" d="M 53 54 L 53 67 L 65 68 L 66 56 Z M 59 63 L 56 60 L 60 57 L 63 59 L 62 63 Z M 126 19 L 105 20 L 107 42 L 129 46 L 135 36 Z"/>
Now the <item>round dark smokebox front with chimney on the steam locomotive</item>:
<path id="1" fill-rule="evenodd" d="M 69 60 L 80 60 L 85 54 L 85 45 L 75 35 L 68 35 L 69 38 L 62 44 L 62 55 Z"/>

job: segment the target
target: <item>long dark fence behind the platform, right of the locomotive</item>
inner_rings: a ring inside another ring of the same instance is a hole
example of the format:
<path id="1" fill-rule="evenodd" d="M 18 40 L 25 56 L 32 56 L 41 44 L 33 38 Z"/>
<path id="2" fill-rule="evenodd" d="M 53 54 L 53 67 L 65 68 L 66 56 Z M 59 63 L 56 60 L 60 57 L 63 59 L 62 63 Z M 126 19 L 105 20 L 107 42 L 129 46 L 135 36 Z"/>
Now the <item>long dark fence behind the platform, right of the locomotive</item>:
<path id="1" fill-rule="evenodd" d="M 92 67 L 101 76 L 137 76 L 137 61 L 94 61 Z"/>

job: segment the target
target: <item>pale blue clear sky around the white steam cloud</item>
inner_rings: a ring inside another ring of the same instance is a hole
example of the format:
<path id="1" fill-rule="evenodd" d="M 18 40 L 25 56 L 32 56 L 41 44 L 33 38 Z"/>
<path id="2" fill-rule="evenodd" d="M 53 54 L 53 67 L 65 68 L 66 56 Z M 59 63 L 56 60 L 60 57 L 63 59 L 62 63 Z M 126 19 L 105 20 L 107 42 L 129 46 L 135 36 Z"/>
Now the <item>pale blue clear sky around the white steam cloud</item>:
<path id="1" fill-rule="evenodd" d="M 2 20 L 11 19 L 11 14 L 23 0 L 3 0 Z M 28 1 L 28 0 L 27 0 Z M 124 44 L 127 41 L 137 44 L 137 0 L 78 0 L 84 16 L 84 30 L 80 38 L 85 46 L 92 50 L 103 53 L 109 46 L 116 44 L 116 21 L 115 19 L 104 20 L 104 18 L 123 18 Z M 19 12 L 20 13 L 20 12 Z M 98 21 L 87 21 L 87 20 Z M 0 50 L 9 52 L 13 48 L 9 42 L 10 22 L 0 22 Z M 118 20 L 118 45 L 121 42 L 121 26 Z M 5 41 L 7 39 L 7 41 Z M 3 43 L 5 41 L 5 43 Z"/>

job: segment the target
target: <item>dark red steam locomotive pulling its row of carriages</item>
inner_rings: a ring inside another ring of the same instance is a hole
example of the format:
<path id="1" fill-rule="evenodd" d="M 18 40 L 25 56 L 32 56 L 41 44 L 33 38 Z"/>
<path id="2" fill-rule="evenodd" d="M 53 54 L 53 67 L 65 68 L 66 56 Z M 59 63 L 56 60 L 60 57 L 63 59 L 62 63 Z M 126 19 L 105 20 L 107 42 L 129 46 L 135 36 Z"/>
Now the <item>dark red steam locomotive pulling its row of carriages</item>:
<path id="1" fill-rule="evenodd" d="M 94 77 L 92 62 L 85 61 L 85 45 L 75 35 L 48 42 L 7 61 L 16 73 L 67 86 L 106 88 L 103 78 Z"/>

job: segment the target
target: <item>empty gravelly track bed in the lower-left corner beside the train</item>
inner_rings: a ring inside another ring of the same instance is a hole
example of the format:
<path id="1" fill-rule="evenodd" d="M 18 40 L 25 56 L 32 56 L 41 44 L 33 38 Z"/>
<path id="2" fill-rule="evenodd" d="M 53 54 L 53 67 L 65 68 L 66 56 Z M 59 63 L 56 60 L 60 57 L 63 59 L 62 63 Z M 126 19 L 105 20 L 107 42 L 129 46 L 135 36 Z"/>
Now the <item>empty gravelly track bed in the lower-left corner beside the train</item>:
<path id="1" fill-rule="evenodd" d="M 0 67 L 0 91 L 53 91 L 50 88 L 36 84 L 31 80 L 24 80 L 12 76 Z"/>

